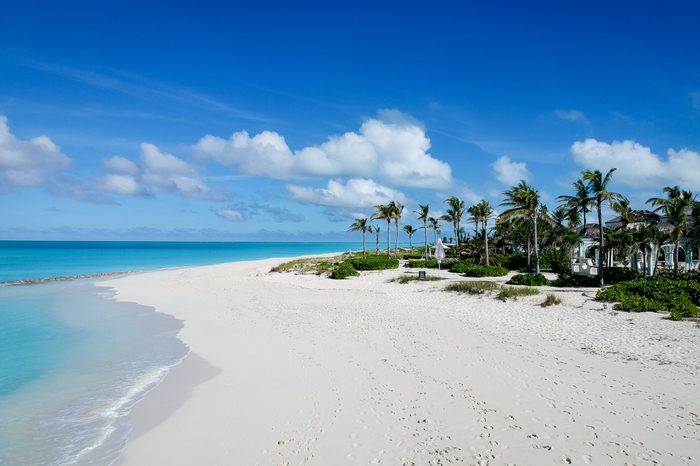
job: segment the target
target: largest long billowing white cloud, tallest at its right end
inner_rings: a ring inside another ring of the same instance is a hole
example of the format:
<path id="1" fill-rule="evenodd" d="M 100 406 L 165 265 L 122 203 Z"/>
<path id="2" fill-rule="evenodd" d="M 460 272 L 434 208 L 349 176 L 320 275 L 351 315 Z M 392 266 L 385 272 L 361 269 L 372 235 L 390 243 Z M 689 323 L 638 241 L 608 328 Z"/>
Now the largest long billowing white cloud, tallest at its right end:
<path id="1" fill-rule="evenodd" d="M 206 135 L 194 151 L 243 173 L 275 179 L 373 176 L 397 186 L 451 184 L 451 168 L 428 153 L 430 139 L 422 126 L 395 110 L 382 111 L 380 118 L 366 120 L 357 133 L 331 136 L 296 151 L 274 131 L 254 136 L 241 131 L 229 139 Z"/>

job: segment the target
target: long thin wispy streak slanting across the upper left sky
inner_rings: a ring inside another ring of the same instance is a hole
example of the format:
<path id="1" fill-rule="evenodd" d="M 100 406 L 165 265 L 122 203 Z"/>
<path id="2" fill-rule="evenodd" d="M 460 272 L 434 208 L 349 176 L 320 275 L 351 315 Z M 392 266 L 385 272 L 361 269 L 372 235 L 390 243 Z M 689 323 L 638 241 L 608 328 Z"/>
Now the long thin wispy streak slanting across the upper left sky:
<path id="1" fill-rule="evenodd" d="M 34 60 L 27 60 L 23 64 L 28 68 L 61 76 L 93 87 L 130 95 L 139 99 L 166 99 L 171 102 L 205 110 L 223 112 L 242 120 L 266 123 L 274 121 L 272 118 L 242 110 L 192 89 L 148 79 L 125 71 L 113 70 L 112 74 L 108 75 Z"/>

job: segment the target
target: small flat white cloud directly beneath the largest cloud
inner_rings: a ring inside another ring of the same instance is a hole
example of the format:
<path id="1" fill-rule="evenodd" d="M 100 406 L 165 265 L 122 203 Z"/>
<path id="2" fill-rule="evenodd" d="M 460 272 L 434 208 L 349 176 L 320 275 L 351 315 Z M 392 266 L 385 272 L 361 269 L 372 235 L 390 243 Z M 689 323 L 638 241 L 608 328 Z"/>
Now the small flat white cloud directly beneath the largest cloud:
<path id="1" fill-rule="evenodd" d="M 297 201 L 335 207 L 366 208 L 392 200 L 406 201 L 403 193 L 362 178 L 349 179 L 345 184 L 331 179 L 326 188 L 287 185 L 287 193 Z"/>

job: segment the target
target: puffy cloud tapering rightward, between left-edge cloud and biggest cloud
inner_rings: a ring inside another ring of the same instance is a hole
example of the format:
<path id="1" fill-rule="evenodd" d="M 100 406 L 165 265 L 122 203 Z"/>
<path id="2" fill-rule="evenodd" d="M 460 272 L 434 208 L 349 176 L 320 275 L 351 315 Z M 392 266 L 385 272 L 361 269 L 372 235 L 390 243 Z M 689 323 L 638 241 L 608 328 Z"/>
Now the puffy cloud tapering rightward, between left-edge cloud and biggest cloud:
<path id="1" fill-rule="evenodd" d="M 153 144 L 141 144 L 138 164 L 124 157 L 111 157 L 103 160 L 102 167 L 107 174 L 98 186 L 106 192 L 123 195 L 166 192 L 190 199 L 226 199 L 224 193 L 207 186 L 192 165 Z"/>

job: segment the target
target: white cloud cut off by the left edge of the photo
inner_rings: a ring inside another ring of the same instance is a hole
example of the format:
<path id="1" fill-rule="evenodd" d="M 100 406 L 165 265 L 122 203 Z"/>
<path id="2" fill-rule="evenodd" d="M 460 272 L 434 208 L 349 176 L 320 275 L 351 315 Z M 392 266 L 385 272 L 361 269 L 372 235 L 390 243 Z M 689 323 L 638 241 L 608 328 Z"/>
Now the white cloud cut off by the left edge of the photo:
<path id="1" fill-rule="evenodd" d="M 51 139 L 18 139 L 10 132 L 7 117 L 0 115 L 0 191 L 45 186 L 52 174 L 70 164 Z"/>

